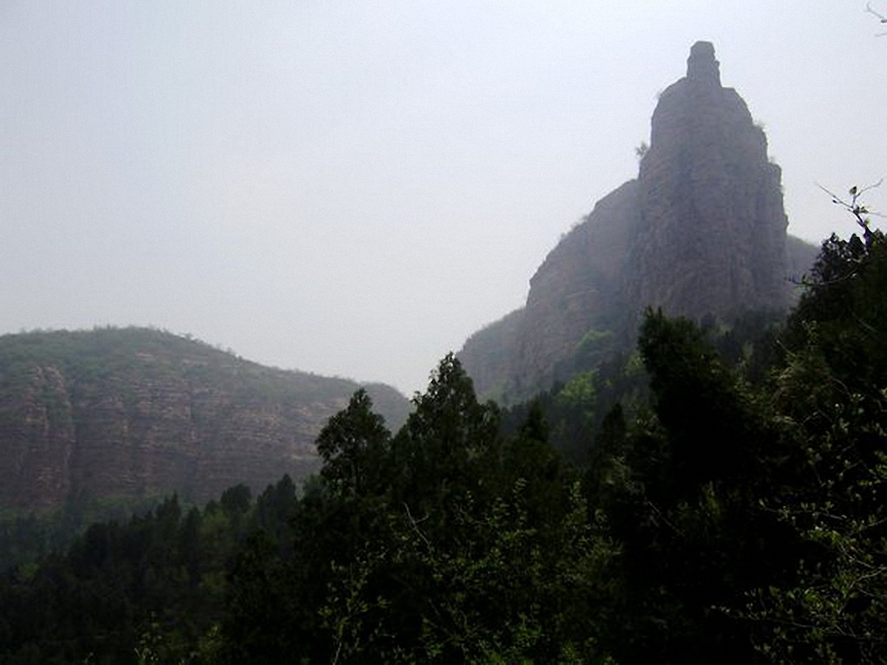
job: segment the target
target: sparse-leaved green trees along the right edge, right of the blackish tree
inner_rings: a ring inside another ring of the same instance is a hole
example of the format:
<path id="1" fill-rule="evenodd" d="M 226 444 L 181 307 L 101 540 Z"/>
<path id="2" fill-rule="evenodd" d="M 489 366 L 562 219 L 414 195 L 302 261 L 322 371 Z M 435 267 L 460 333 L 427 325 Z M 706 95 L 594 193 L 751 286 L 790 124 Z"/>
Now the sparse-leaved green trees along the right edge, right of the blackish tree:
<path id="1" fill-rule="evenodd" d="M 789 321 L 774 378 L 797 450 L 790 494 L 768 497 L 810 547 L 797 581 L 750 595 L 777 662 L 887 661 L 887 242 L 834 236 Z"/>

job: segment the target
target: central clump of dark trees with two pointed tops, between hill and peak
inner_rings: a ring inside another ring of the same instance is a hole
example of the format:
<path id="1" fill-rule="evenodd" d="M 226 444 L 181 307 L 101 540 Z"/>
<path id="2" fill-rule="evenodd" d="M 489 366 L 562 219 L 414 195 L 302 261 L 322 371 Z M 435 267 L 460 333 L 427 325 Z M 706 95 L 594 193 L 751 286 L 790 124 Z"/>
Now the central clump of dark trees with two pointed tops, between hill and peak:
<path id="1" fill-rule="evenodd" d="M 229 660 L 585 662 L 597 653 L 582 617 L 616 549 L 545 442 L 538 411 L 504 439 L 498 410 L 477 403 L 453 356 L 414 402 L 394 437 L 360 393 L 330 420 L 318 439 L 322 482 L 297 512 L 292 558 L 253 547 L 232 578 L 236 598 L 257 592 L 288 621 L 270 622 L 258 599 L 239 601 L 223 623 Z"/>

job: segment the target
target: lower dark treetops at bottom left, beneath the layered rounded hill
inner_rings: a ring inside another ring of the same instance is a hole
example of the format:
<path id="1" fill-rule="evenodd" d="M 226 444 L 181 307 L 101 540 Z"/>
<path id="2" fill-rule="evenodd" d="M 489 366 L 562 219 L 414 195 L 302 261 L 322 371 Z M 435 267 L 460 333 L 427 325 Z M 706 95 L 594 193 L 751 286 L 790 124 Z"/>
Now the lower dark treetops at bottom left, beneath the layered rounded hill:
<path id="1" fill-rule="evenodd" d="M 202 512 L 174 496 L 5 572 L 0 662 L 216 662 L 226 571 L 273 504 L 294 499 L 288 478 L 255 505 L 242 486 Z"/>

